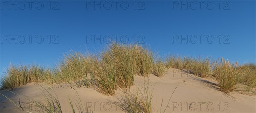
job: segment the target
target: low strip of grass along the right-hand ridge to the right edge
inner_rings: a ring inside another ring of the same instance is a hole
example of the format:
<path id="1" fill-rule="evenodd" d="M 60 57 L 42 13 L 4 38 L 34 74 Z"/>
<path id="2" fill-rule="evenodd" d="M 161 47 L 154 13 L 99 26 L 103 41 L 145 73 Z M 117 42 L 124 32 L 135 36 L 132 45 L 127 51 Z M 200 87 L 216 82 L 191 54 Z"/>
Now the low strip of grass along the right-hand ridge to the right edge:
<path id="1" fill-rule="evenodd" d="M 165 65 L 167 68 L 188 69 L 193 74 L 199 77 L 208 77 L 212 75 L 218 81 L 220 91 L 230 93 L 233 91 L 256 92 L 256 66 L 241 65 L 230 63 L 223 58 L 212 62 L 210 57 L 206 58 L 192 58 L 181 57 L 180 55 L 171 55 L 166 57 Z M 255 66 L 255 67 L 254 67 Z M 239 87 L 239 83 L 245 85 L 244 89 Z"/>

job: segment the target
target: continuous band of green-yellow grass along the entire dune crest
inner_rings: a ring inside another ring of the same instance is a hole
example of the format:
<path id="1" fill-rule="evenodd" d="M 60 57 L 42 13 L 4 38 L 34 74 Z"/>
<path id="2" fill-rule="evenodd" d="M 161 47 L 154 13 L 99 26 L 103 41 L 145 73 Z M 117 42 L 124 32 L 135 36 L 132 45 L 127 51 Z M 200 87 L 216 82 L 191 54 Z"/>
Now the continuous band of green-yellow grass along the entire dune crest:
<path id="1" fill-rule="evenodd" d="M 214 66 L 213 66 L 214 64 Z M 138 44 L 111 43 L 97 55 L 69 52 L 64 55 L 55 69 L 36 65 L 10 66 L 8 74 L 0 80 L 1 89 L 13 89 L 28 83 L 46 82 L 48 85 L 69 83 L 81 87 L 96 87 L 100 92 L 113 96 L 115 90 L 129 90 L 134 76 L 149 77 L 153 73 L 163 77 L 166 68 L 187 69 L 199 77 L 212 75 L 219 83 L 220 90 L 228 93 L 238 90 L 238 83 L 244 84 L 243 92 L 250 92 L 256 85 L 256 69 L 245 68 L 228 61 L 212 62 L 210 57 L 196 58 L 169 55 L 165 61 L 154 59 L 153 53 Z M 234 88 L 234 89 L 233 89 Z"/>

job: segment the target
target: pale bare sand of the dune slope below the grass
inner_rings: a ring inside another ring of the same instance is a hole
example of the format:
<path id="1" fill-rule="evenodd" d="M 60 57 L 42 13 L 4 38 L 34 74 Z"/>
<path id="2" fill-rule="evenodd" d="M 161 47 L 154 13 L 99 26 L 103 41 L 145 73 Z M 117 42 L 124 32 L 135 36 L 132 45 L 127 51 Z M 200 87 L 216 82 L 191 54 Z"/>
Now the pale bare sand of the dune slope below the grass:
<path id="1" fill-rule="evenodd" d="M 148 81 L 148 78 L 137 76 L 132 91 L 141 88 L 145 81 Z M 150 76 L 150 83 L 150 88 L 152 89 L 154 87 L 154 96 L 152 99 L 153 112 L 163 112 L 167 106 L 170 95 L 177 86 L 177 89 L 166 108 L 166 113 L 256 113 L 255 95 L 249 96 L 237 92 L 225 95 L 221 91 L 218 91 L 218 87 L 214 80 L 195 77 L 192 74 L 188 74 L 178 69 L 169 69 L 162 78 L 158 78 L 152 74 Z M 89 111 L 93 111 L 94 113 L 123 112 L 119 107 L 113 104 L 113 102 L 117 102 L 117 99 L 123 94 L 120 89 L 116 91 L 116 96 L 113 97 L 105 96 L 94 88 L 77 88 L 76 90 L 73 90 L 67 85 L 63 85 L 63 87 L 50 90 L 44 83 L 40 83 L 40 85 L 46 88 L 51 94 L 54 94 L 55 92 L 58 95 L 62 110 L 66 113 L 72 111 L 68 103 L 68 98 L 72 99 L 73 102 L 76 102 L 76 91 L 78 92 L 83 105 L 88 106 Z M 13 92 L 41 101 L 41 98 L 38 96 L 42 97 L 42 91 L 38 89 L 38 87 L 39 85 L 31 83 L 21 88 L 15 88 Z M 28 102 L 24 97 L 16 96 L 6 90 L 1 91 L 1 93 L 17 102 L 17 104 L 20 99 L 21 106 L 23 106 L 24 109 L 27 107 L 26 110 L 30 111 L 29 107 L 32 106 L 29 103 L 23 103 Z M 19 107 L 15 107 L 14 104 L 2 95 L 0 95 L 0 103 L 0 113 L 27 113 L 26 111 L 20 110 Z"/>

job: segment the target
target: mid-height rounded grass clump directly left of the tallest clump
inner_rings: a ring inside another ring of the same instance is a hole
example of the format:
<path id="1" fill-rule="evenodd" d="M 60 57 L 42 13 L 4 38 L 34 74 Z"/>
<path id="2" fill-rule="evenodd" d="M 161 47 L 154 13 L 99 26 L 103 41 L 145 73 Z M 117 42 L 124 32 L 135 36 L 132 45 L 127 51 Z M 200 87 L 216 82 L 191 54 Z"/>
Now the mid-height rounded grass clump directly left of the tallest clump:
<path id="1" fill-rule="evenodd" d="M 88 78 L 88 59 L 80 52 L 71 52 L 64 56 L 64 61 L 61 61 L 59 70 L 63 82 L 74 82 L 81 88 L 89 87 Z"/>

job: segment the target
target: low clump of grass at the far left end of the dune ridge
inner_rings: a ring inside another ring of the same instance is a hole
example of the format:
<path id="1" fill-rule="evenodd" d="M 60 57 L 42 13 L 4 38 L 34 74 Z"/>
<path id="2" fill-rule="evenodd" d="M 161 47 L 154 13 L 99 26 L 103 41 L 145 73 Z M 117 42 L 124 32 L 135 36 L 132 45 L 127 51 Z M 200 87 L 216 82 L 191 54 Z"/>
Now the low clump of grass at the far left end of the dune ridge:
<path id="1" fill-rule="evenodd" d="M 10 66 L 7 76 L 0 81 L 1 89 L 13 89 L 32 82 L 43 82 L 46 70 L 42 67 L 32 66 Z"/>

